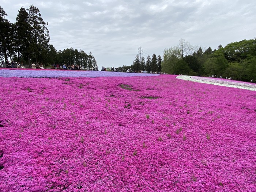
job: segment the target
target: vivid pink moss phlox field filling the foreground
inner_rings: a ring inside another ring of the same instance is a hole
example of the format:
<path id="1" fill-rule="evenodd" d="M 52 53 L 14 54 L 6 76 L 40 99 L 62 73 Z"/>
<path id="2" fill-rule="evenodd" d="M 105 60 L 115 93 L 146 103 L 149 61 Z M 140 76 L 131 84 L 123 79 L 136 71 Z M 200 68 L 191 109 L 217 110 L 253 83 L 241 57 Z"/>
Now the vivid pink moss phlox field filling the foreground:
<path id="1" fill-rule="evenodd" d="M 256 92 L 0 77 L 0 191 L 256 191 Z"/>

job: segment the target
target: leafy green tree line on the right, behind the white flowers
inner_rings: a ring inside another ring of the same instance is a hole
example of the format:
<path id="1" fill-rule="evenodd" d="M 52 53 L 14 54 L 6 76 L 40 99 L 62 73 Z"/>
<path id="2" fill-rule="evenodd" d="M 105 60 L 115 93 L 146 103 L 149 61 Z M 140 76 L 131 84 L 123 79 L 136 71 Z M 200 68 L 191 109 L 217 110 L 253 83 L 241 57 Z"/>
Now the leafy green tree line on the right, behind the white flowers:
<path id="1" fill-rule="evenodd" d="M 177 46 L 163 51 L 162 72 L 192 76 L 232 77 L 256 80 L 256 38 L 204 50 L 180 39 Z"/>

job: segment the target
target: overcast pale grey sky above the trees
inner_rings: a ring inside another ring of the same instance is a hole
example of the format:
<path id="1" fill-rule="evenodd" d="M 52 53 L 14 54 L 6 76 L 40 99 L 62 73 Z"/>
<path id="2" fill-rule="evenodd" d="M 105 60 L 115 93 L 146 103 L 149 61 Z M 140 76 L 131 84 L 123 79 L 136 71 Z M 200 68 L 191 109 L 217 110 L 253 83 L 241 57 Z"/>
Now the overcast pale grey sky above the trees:
<path id="1" fill-rule="evenodd" d="M 14 23 L 34 4 L 48 22 L 50 44 L 92 52 L 99 69 L 131 65 L 139 46 L 147 58 L 185 39 L 217 49 L 256 37 L 255 0 L 0 0 Z"/>

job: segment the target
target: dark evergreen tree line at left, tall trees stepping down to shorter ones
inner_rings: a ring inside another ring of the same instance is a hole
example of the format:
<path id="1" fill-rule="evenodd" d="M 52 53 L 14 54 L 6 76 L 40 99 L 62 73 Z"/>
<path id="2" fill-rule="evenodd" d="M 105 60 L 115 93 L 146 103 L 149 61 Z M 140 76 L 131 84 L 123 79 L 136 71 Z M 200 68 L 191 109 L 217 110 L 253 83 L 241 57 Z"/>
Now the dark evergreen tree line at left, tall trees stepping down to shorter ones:
<path id="1" fill-rule="evenodd" d="M 30 5 L 28 9 L 21 7 L 16 22 L 11 23 L 0 6 L 0 58 L 7 62 L 8 58 L 17 62 L 79 65 L 82 69 L 97 69 L 97 62 L 92 53 L 83 50 L 64 49 L 57 51 L 49 44 L 48 23 L 41 17 L 39 9 Z"/>

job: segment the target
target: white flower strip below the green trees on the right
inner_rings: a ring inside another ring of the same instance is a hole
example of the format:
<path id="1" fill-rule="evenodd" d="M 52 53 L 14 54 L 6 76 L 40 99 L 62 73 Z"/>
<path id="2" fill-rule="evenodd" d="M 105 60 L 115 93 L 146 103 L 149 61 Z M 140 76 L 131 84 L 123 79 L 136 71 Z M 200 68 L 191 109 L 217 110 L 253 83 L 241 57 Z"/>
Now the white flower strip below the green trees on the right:
<path id="1" fill-rule="evenodd" d="M 187 75 L 180 75 L 176 78 L 186 80 L 186 81 L 194 81 L 194 82 L 200 82 L 200 83 L 206 83 L 206 84 L 212 84 L 212 85 L 219 85 L 219 86 L 225 86 L 225 87 L 233 87 L 233 88 L 239 88 L 239 89 L 248 89 L 251 91 L 256 91 L 256 84 L 251 84 L 248 82 L 242 82 L 242 81 L 229 81 L 225 79 L 216 79 L 216 78 L 208 78 L 208 77 L 195 77 L 195 76 L 187 76 Z"/>

